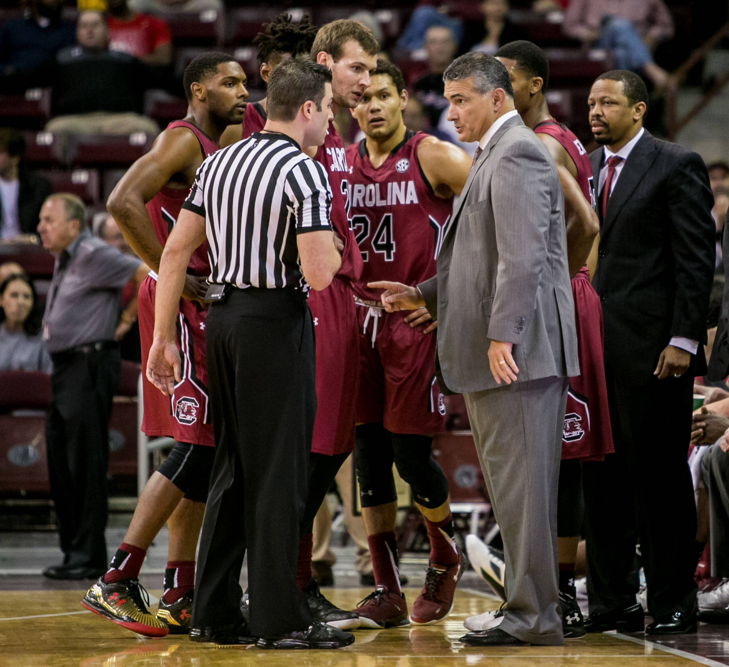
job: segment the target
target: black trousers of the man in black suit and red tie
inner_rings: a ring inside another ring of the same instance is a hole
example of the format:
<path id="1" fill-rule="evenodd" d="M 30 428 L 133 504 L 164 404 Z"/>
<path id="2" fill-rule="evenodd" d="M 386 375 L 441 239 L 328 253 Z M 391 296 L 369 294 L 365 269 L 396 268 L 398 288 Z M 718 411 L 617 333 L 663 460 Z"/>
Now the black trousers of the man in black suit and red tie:
<path id="1" fill-rule="evenodd" d="M 606 371 L 615 454 L 582 464 L 590 613 L 636 604 L 636 543 L 650 614 L 690 612 L 698 560 L 687 463 L 693 374 L 636 387 Z"/>

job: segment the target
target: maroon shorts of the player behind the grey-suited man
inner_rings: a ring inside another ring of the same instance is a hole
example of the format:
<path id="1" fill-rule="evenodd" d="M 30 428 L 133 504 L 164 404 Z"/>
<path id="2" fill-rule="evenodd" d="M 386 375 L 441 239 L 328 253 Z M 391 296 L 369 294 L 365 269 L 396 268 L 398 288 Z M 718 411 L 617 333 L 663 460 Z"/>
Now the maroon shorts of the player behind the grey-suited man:
<path id="1" fill-rule="evenodd" d="M 572 278 L 580 375 L 569 379 L 562 459 L 602 460 L 614 451 L 602 346 L 602 308 L 583 268 Z"/>

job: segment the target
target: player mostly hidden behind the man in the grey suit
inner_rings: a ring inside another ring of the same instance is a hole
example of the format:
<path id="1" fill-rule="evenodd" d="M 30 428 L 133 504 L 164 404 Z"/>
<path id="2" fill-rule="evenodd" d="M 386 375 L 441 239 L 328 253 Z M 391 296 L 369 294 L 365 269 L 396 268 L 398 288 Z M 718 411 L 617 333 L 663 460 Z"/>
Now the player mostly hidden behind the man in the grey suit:
<path id="1" fill-rule="evenodd" d="M 574 639 L 585 634 L 574 588 L 577 544 L 584 513 L 580 461 L 601 460 L 613 451 L 603 365 L 602 310 L 585 267 L 599 232 L 599 221 L 593 210 L 595 187 L 587 151 L 570 130 L 553 119 L 547 106 L 544 90 L 549 81 L 549 62 L 545 53 L 535 44 L 520 40 L 505 44 L 496 52 L 496 58 L 509 71 L 516 110 L 554 158 L 564 193 L 567 254 L 581 374 L 569 381 L 559 473 L 557 542 L 564 636 Z M 496 554 L 497 560 L 502 560 L 498 556 Z M 492 568 L 492 574 L 496 569 L 502 568 Z M 488 564 L 484 571 L 488 574 Z M 477 622 L 471 619 L 467 620 L 466 627 L 486 629 L 477 627 Z"/>

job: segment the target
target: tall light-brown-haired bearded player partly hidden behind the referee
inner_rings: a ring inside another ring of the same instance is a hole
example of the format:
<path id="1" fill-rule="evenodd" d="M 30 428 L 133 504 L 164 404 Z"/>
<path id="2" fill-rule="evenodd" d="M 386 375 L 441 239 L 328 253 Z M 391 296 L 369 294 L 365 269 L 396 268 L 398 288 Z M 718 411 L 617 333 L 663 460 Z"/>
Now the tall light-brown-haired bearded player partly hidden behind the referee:
<path id="1" fill-rule="evenodd" d="M 340 108 L 354 108 L 370 85 L 370 72 L 377 64 L 379 44 L 362 23 L 340 19 L 327 23 L 316 33 L 311 59 L 332 71 L 335 114 Z M 295 54 L 294 54 L 295 55 Z M 241 136 L 260 131 L 266 120 L 265 100 L 246 107 Z M 238 140 L 229 131 L 224 141 Z M 339 468 L 354 450 L 355 405 L 352 397 L 359 386 L 359 332 L 351 283 L 362 273 L 348 210 L 348 165 L 344 145 L 330 122 L 322 146 L 303 149 L 321 162 L 329 174 L 332 189 L 331 220 L 342 266 L 327 289 L 311 292 L 308 306 L 316 335 L 316 419 L 309 461 L 308 498 L 301 524 L 301 545 L 297 585 L 305 594 L 316 620 L 343 630 L 359 626 L 359 615 L 335 607 L 324 598 L 311 576 L 311 534 L 313 520 L 332 486 Z M 245 596 L 243 604 L 245 604 Z"/>

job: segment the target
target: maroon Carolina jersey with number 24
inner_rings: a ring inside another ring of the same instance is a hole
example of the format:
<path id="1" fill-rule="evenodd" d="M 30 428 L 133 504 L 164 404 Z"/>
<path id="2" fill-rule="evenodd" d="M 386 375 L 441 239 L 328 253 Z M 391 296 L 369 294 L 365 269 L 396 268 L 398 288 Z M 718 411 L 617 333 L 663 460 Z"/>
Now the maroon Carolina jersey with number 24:
<path id="1" fill-rule="evenodd" d="M 353 287 L 361 299 L 380 300 L 381 290 L 367 288 L 373 280 L 417 285 L 435 275 L 453 197 L 437 197 L 421 170 L 418 146 L 427 136 L 408 130 L 378 169 L 364 139 L 347 149 L 349 213 L 364 260 Z"/>

